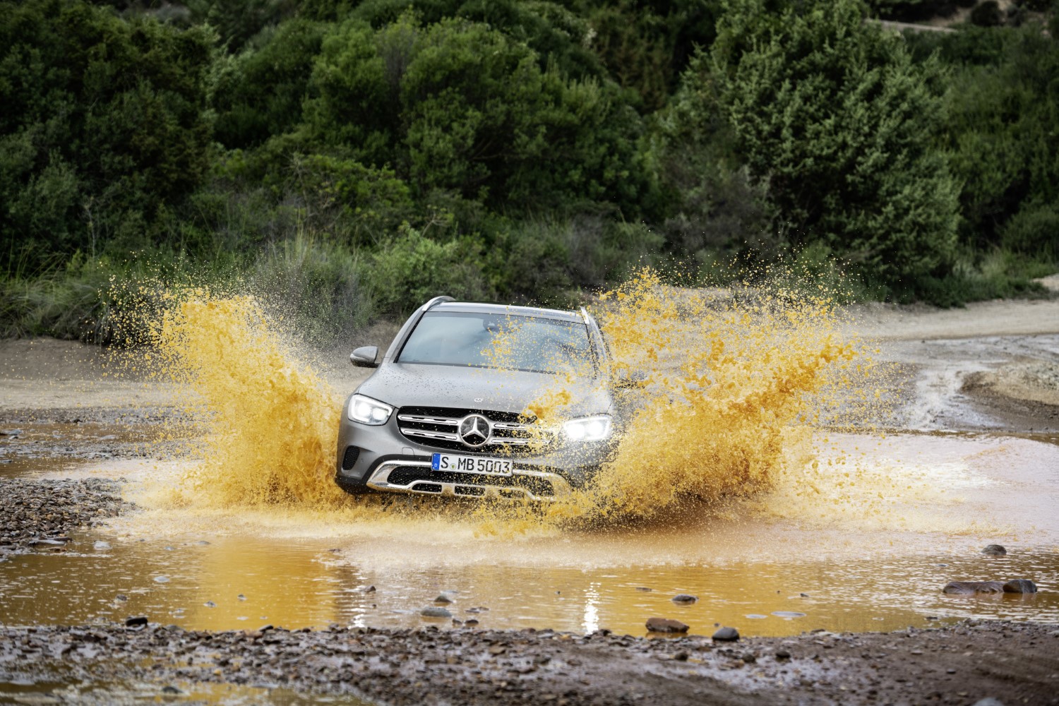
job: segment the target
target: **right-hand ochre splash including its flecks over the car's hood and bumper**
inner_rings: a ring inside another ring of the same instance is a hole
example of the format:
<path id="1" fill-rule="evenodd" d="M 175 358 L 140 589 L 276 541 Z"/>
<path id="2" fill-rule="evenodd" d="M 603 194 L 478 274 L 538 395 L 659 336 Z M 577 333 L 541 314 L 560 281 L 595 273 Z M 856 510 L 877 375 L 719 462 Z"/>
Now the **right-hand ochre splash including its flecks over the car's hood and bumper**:
<path id="1" fill-rule="evenodd" d="M 711 296 L 664 286 L 644 270 L 594 309 L 613 357 L 612 386 L 626 390 L 618 405 L 631 411 L 616 453 L 587 488 L 543 515 L 507 510 L 502 524 L 514 515 L 579 524 L 717 511 L 780 482 L 797 486 L 807 465 L 827 485 L 812 465 L 812 430 L 860 416 L 864 399 L 879 396 L 864 390 L 867 346 L 842 332 L 823 288 L 806 295 L 744 286 Z M 502 361 L 508 348 L 499 345 L 493 357 Z M 526 416 L 561 423 L 571 381 L 556 376 Z"/>

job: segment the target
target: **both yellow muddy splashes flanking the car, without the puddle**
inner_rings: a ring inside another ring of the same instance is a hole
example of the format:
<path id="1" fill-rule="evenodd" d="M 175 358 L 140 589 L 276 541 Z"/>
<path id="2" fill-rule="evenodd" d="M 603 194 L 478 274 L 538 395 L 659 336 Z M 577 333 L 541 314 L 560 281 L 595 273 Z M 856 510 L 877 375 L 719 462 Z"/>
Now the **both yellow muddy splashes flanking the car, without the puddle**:
<path id="1" fill-rule="evenodd" d="M 821 422 L 821 400 L 859 391 L 849 378 L 864 364 L 860 349 L 840 336 L 824 294 L 746 287 L 711 298 L 645 270 L 594 309 L 614 360 L 610 375 L 639 380 L 622 393 L 634 412 L 616 454 L 587 488 L 543 509 L 481 506 L 486 533 L 753 496 L 810 460 L 806 440 Z M 335 391 L 300 361 L 257 300 L 186 290 L 170 296 L 149 331 L 149 363 L 194 391 L 201 403 L 193 412 L 209 430 L 202 460 L 176 500 L 349 506 L 331 479 Z M 555 377 L 527 414 L 562 418 L 574 377 Z"/>

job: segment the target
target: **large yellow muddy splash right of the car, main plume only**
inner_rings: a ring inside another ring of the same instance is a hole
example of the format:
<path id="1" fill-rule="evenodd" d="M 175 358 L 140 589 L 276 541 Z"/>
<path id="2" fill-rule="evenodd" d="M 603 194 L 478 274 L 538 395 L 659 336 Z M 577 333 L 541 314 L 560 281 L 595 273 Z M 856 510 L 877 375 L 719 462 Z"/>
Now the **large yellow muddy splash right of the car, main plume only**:
<path id="1" fill-rule="evenodd" d="M 815 395 L 857 347 L 824 296 L 753 292 L 707 306 L 641 273 L 605 295 L 615 366 L 646 376 L 617 455 L 590 490 L 603 508 L 649 515 L 681 497 L 715 502 L 771 487 L 814 417 Z"/>

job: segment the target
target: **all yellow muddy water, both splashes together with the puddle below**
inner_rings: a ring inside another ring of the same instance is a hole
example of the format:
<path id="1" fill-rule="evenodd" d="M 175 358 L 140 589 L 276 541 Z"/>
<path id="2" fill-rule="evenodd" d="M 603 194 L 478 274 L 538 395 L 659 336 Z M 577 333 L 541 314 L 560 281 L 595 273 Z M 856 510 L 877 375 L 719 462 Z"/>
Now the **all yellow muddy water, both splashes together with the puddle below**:
<path id="1" fill-rule="evenodd" d="M 662 616 L 747 635 L 1059 621 L 1054 439 L 874 430 L 893 394 L 824 294 L 711 300 L 645 272 L 594 309 L 614 374 L 644 384 L 596 483 L 541 509 L 347 497 L 331 478 L 348 391 L 253 297 L 175 297 L 141 364 L 185 386 L 204 436 L 178 460 L 78 469 L 129 477 L 141 509 L 65 554 L 0 565 L 0 621 L 642 634 Z M 534 415 L 561 420 L 562 393 L 541 391 Z M 983 557 L 994 542 L 1010 554 Z M 1042 591 L 940 591 L 1011 578 Z M 452 617 L 423 617 L 442 595 Z"/>

